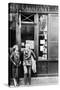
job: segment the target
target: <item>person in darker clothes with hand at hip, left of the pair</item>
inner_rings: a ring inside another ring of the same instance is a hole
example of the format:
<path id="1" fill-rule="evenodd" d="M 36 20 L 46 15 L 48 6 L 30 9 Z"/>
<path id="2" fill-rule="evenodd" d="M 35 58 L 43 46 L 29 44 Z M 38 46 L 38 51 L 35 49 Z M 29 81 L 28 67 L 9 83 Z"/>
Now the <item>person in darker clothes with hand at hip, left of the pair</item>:
<path id="1" fill-rule="evenodd" d="M 13 63 L 12 74 L 14 85 L 16 86 L 19 85 L 18 66 L 21 64 L 18 45 L 13 46 L 13 51 L 11 53 L 10 60 Z"/>

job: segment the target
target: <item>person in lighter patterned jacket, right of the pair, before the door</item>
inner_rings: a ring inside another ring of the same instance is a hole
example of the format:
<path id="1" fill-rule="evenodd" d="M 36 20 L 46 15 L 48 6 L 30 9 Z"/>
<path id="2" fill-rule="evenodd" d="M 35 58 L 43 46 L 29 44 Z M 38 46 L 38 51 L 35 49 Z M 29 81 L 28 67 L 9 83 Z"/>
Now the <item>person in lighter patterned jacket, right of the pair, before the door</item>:
<path id="1" fill-rule="evenodd" d="M 32 59 L 31 55 L 35 57 L 34 52 L 30 49 L 30 46 L 25 46 L 24 49 L 24 59 L 23 59 L 23 67 L 24 67 L 24 83 L 27 84 L 27 74 L 29 85 L 31 84 L 31 68 L 32 68 Z"/>

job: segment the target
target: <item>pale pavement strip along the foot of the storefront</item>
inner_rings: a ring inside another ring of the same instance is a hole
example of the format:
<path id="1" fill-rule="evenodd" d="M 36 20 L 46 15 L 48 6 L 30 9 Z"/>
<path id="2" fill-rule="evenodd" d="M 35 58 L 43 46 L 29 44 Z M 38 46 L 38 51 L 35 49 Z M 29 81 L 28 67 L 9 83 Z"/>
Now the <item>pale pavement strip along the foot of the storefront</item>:
<path id="1" fill-rule="evenodd" d="M 58 84 L 58 76 L 51 76 L 51 77 L 32 77 L 31 78 L 31 85 L 27 83 L 26 86 L 37 86 L 37 85 L 56 85 Z M 13 85 L 11 85 L 13 86 Z M 24 78 L 20 78 L 19 86 L 24 85 Z"/>

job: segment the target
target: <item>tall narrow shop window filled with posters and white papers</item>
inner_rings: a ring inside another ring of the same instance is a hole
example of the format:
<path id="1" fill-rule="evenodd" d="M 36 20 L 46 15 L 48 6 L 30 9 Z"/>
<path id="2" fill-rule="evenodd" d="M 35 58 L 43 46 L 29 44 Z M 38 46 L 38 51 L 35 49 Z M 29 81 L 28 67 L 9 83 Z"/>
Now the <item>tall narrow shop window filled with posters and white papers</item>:
<path id="1" fill-rule="evenodd" d="M 47 15 L 41 15 L 39 22 L 39 59 L 47 60 Z"/>

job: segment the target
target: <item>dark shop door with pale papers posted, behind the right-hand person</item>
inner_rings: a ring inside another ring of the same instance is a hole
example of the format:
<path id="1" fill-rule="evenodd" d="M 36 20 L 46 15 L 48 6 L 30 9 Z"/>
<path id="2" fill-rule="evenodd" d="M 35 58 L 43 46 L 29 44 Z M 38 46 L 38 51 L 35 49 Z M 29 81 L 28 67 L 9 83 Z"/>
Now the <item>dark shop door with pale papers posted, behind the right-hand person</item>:
<path id="1" fill-rule="evenodd" d="M 22 24 L 21 25 L 21 77 L 24 76 L 23 71 L 23 51 L 25 48 L 25 44 L 30 46 L 31 50 L 34 51 L 34 24 Z M 32 72 L 32 77 L 35 76 L 35 74 Z"/>

